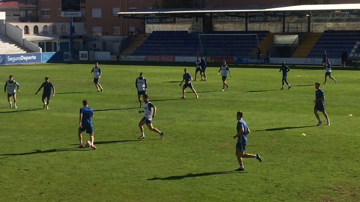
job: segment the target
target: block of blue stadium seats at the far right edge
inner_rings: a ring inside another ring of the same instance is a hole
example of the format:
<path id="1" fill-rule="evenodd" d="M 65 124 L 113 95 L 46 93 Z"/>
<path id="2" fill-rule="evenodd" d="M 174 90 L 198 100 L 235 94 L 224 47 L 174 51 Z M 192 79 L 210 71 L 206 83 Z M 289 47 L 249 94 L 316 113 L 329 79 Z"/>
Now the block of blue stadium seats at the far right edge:
<path id="1" fill-rule="evenodd" d="M 360 30 L 326 30 L 312 47 L 307 58 L 322 58 L 326 50 L 328 58 L 339 58 L 343 49 L 350 53 L 360 41 Z M 360 49 L 355 49 L 360 52 Z"/>

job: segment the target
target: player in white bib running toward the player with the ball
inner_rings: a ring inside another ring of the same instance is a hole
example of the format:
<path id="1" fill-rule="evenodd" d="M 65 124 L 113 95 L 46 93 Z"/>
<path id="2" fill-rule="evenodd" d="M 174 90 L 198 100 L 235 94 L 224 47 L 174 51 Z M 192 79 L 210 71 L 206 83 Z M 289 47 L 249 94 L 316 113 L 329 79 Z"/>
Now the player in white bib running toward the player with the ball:
<path id="1" fill-rule="evenodd" d="M 146 124 L 148 126 L 149 130 L 157 132 L 160 135 L 160 138 L 162 139 L 164 137 L 164 133 L 160 132 L 157 128 L 154 128 L 153 122 L 152 122 L 152 118 L 154 118 L 155 114 L 156 114 L 156 107 L 151 102 L 149 102 L 148 95 L 143 95 L 143 99 L 145 102 L 144 110 L 142 110 L 142 111 L 139 110 L 139 114 L 144 113 L 144 118 L 142 118 L 139 122 L 139 128 L 140 128 L 140 132 L 141 132 L 141 136 L 139 137 L 139 139 L 145 138 L 144 128 L 143 128 L 144 124 Z"/>

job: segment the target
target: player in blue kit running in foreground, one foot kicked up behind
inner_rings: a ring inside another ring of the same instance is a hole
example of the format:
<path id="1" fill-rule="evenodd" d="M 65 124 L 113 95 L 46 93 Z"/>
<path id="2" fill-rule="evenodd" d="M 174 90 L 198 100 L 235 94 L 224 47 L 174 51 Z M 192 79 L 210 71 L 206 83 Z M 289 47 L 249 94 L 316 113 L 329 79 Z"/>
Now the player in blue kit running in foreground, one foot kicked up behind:
<path id="1" fill-rule="evenodd" d="M 243 171 L 244 165 L 243 165 L 243 159 L 242 158 L 256 158 L 260 162 L 262 159 L 260 158 L 260 155 L 256 154 L 249 154 L 244 153 L 245 147 L 247 144 L 247 134 L 250 133 L 250 129 L 247 127 L 246 122 L 243 120 L 244 114 L 241 111 L 238 111 L 236 113 L 236 119 L 238 120 L 238 123 L 236 125 L 237 134 L 233 137 L 234 139 L 238 138 L 238 141 L 236 143 L 235 147 L 235 155 L 238 159 L 240 167 L 236 169 L 236 171 Z"/>

